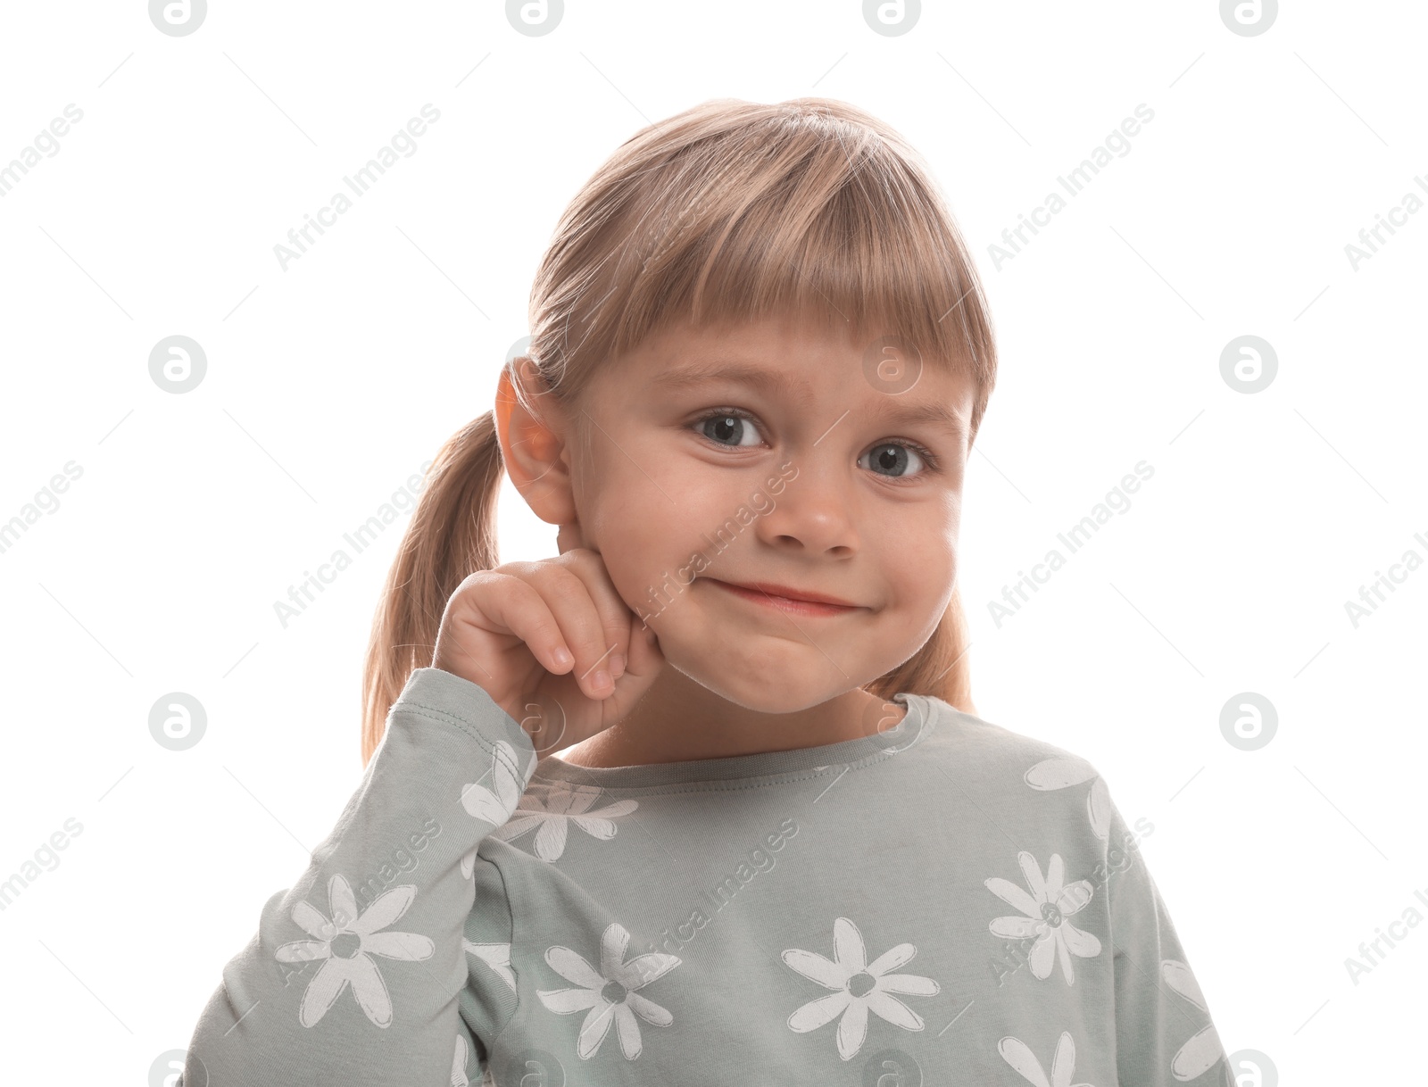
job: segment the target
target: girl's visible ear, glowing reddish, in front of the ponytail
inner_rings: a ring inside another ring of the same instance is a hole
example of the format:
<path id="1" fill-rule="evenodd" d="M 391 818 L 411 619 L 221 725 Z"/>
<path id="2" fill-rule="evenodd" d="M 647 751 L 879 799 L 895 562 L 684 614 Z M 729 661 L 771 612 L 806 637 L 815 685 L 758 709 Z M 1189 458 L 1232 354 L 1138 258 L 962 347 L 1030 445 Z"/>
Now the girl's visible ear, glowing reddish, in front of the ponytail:
<path id="1" fill-rule="evenodd" d="M 517 399 L 516 381 L 540 414 Z M 506 471 L 531 511 L 547 524 L 574 523 L 565 411 L 530 359 L 514 359 L 501 369 L 496 387 L 496 434 Z"/>

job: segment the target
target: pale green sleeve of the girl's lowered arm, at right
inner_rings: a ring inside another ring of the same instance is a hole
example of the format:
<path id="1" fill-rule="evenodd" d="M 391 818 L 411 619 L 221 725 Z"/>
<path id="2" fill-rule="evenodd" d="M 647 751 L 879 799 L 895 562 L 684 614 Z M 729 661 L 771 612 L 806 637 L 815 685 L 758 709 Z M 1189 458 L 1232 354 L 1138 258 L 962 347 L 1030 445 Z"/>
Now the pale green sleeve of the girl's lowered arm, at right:
<path id="1" fill-rule="evenodd" d="M 1122 1087 L 1234 1087 L 1230 1061 L 1175 926 L 1135 834 L 1114 806 L 1110 831 L 1117 1078 Z"/>

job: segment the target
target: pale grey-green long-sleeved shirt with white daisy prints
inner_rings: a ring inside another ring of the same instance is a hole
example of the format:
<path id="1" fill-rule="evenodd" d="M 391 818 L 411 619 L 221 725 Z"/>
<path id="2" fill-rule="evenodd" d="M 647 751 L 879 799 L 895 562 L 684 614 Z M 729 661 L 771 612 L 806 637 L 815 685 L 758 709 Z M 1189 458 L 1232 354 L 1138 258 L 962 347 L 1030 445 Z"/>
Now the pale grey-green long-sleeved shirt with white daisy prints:
<path id="1" fill-rule="evenodd" d="M 180 1087 L 1232 1084 L 1094 767 L 897 700 L 857 740 L 587 768 L 416 670 Z"/>

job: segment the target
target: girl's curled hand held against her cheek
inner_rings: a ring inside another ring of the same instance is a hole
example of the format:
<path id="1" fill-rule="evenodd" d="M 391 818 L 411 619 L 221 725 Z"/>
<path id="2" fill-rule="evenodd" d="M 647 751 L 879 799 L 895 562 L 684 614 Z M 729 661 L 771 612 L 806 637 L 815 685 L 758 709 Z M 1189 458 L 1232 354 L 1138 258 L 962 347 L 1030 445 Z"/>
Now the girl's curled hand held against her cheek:
<path id="1" fill-rule="evenodd" d="M 441 616 L 431 666 L 483 687 L 545 754 L 624 718 L 664 654 L 600 554 L 571 548 L 461 581 Z"/>

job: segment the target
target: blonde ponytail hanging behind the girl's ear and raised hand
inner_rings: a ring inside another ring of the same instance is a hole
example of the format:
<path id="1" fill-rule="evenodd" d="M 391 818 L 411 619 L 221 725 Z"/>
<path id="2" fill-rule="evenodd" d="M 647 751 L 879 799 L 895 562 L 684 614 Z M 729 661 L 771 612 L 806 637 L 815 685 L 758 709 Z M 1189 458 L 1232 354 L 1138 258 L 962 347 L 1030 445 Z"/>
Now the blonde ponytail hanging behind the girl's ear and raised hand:
<path id="1" fill-rule="evenodd" d="M 467 574 L 498 566 L 501 446 L 491 411 L 447 439 L 387 571 L 363 670 L 361 763 L 371 760 L 413 670 L 431 664 L 447 600 Z"/>

